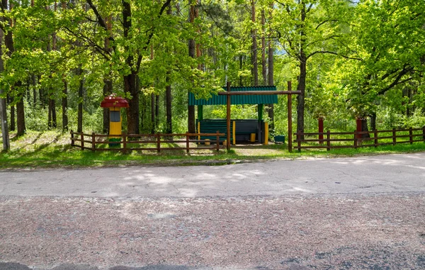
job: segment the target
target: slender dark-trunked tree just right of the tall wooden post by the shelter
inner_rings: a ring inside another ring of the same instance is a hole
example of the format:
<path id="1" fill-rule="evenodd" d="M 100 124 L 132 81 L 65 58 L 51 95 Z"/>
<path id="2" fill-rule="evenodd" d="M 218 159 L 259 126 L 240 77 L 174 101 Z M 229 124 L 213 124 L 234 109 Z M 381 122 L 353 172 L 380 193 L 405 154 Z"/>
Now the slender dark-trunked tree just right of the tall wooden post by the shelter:
<path id="1" fill-rule="evenodd" d="M 304 132 L 307 61 L 314 55 L 346 57 L 344 27 L 351 18 L 348 0 L 277 1 L 274 28 L 287 54 L 297 61 L 297 130 Z M 341 40 L 341 41 L 336 41 Z M 337 42 L 337 46 L 335 43 Z"/>

